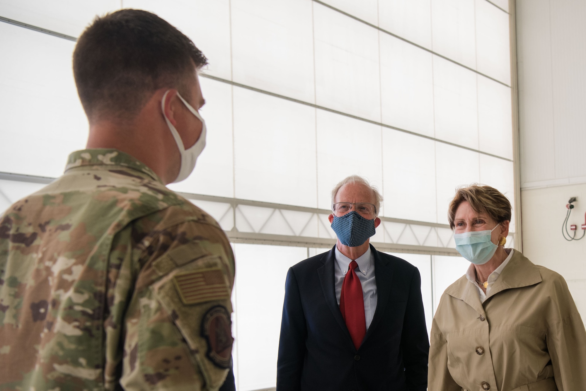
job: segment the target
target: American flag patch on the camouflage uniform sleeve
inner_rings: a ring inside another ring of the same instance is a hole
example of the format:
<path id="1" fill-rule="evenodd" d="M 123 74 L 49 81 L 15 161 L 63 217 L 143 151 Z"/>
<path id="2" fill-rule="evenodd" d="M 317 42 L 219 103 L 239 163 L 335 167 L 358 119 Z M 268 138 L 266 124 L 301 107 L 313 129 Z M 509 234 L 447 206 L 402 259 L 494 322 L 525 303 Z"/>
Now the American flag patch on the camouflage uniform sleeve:
<path id="1" fill-rule="evenodd" d="M 178 273 L 173 282 L 183 304 L 230 299 L 230 290 L 219 267 Z"/>

